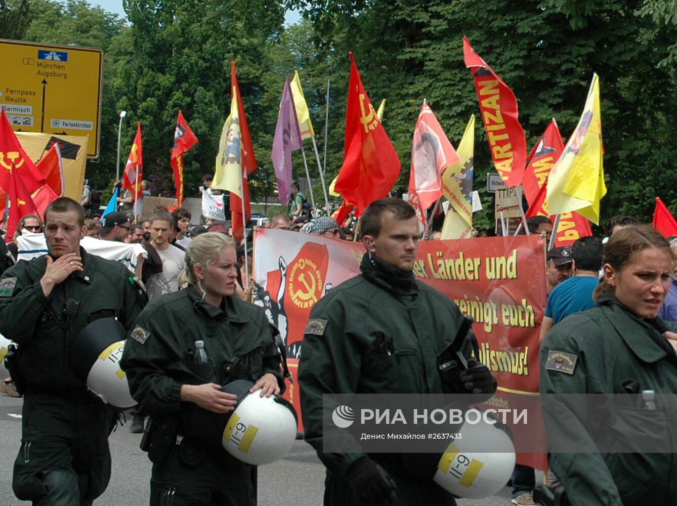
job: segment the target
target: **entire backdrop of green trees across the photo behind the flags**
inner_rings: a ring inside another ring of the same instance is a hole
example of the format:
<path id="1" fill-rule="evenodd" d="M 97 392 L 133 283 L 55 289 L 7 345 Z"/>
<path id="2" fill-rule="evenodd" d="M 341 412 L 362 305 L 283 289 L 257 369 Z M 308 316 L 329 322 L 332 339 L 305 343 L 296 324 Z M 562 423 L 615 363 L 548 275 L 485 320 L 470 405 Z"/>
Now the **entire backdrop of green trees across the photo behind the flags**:
<path id="1" fill-rule="evenodd" d="M 8 9 L 28 20 L 14 27 L 17 37 L 106 51 L 102 157 L 88 167 L 90 177 L 106 184 L 114 173 L 118 112 L 127 110 L 123 163 L 140 121 L 146 177 L 156 192 L 173 194 L 169 153 L 181 109 L 200 141 L 185 156 L 185 194 L 196 195 L 200 176 L 213 172 L 229 112 L 231 60 L 259 161 L 251 178 L 254 196 L 274 188 L 271 144 L 284 78 L 294 70 L 301 75 L 321 155 L 331 82 L 328 183 L 343 162 L 353 51 L 374 106 L 387 99 L 383 125 L 403 167 L 394 193 L 406 192 L 423 99 L 454 145 L 471 114 L 479 114 L 463 62 L 466 35 L 515 91 L 528 149 L 553 117 L 567 140 L 592 73 L 598 73 L 609 188 L 603 222 L 619 212 L 650 219 L 655 196 L 668 205 L 676 201 L 674 0 L 125 0 L 124 7 L 129 25 L 85 1 L 0 0 L 0 28 L 7 26 L 2 22 Z M 288 8 L 299 9 L 304 20 L 283 28 Z M 479 118 L 476 139 L 475 187 L 485 211 L 475 215 L 475 223 L 487 227 L 491 196 L 483 187 L 494 167 Z M 305 147 L 316 177 L 311 143 Z M 294 154 L 294 175 L 303 173 L 301 156 Z M 316 201 L 321 194 L 315 188 Z"/>

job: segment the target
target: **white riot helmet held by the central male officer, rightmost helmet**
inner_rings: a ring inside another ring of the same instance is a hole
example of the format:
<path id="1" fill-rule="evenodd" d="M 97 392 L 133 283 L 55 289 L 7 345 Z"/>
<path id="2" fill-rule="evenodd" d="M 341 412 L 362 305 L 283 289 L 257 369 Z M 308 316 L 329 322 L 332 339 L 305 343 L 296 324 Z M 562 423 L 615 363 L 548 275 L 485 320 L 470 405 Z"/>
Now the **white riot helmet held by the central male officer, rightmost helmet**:
<path id="1" fill-rule="evenodd" d="M 433 481 L 456 497 L 481 499 L 494 495 L 512 476 L 515 445 L 502 423 L 466 421 L 458 432 L 461 440 L 452 442 L 437 464 Z M 479 446 L 492 452 L 477 451 Z M 475 448 L 475 450 L 473 450 Z"/>

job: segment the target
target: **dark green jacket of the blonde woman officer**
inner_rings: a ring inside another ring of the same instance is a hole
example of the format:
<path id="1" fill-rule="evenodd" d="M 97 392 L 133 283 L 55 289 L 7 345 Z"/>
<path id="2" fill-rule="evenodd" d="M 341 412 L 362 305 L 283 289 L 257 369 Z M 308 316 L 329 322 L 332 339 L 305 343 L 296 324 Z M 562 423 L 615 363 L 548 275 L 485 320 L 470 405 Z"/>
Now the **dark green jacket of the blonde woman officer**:
<path id="1" fill-rule="evenodd" d="M 187 407 L 180 401 L 182 385 L 223 385 L 235 369 L 239 373 L 230 379 L 257 381 L 272 373 L 284 386 L 273 330 L 257 305 L 230 296 L 217 308 L 188 287 L 152 300 L 139 314 L 121 367 L 133 398 L 151 416 L 178 414 Z M 135 338 L 139 332 L 145 339 Z M 200 340 L 210 364 L 194 364 L 189 356 Z M 227 371 L 236 358 L 240 366 Z"/>

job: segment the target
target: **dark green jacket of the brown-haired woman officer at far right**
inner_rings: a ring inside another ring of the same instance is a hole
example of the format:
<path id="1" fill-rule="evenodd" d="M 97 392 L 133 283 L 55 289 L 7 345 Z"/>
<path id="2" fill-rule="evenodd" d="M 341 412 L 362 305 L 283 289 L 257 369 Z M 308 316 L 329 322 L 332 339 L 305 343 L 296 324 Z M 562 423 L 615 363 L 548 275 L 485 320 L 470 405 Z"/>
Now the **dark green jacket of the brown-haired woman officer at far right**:
<path id="1" fill-rule="evenodd" d="M 612 427 L 600 426 L 607 422 L 585 402 L 569 406 L 563 398 L 548 400 L 548 394 L 622 394 L 620 383 L 629 378 L 641 389 L 677 393 L 677 356 L 661 335 L 669 329 L 660 318 L 638 318 L 607 294 L 600 296 L 597 308 L 552 327 L 541 345 L 540 391 L 548 438 L 575 433 L 596 448 L 589 431 L 615 434 Z M 576 357 L 573 374 L 546 368 L 550 350 Z M 674 403 L 665 406 L 673 408 Z M 621 438 L 658 438 L 665 448 L 675 447 L 677 413 L 617 406 L 615 413 L 627 415 L 614 422 L 624 423 Z M 574 506 L 667 506 L 677 497 L 677 459 L 670 453 L 554 453 L 550 465 Z"/>

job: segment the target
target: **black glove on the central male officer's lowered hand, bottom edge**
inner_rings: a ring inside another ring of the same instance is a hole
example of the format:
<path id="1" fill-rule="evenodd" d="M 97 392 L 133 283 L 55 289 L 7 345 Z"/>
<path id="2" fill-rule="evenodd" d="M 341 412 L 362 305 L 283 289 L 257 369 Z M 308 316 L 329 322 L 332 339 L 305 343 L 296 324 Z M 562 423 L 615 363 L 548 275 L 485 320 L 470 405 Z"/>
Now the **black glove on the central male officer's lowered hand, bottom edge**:
<path id="1" fill-rule="evenodd" d="M 364 504 L 389 506 L 395 504 L 397 485 L 393 478 L 369 457 L 353 462 L 346 475 L 348 484 Z"/>

